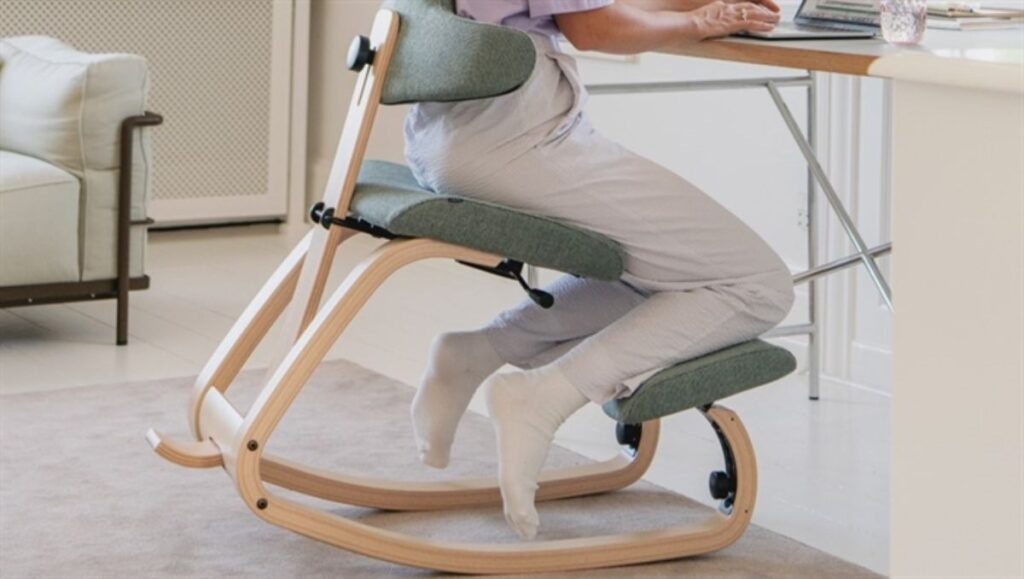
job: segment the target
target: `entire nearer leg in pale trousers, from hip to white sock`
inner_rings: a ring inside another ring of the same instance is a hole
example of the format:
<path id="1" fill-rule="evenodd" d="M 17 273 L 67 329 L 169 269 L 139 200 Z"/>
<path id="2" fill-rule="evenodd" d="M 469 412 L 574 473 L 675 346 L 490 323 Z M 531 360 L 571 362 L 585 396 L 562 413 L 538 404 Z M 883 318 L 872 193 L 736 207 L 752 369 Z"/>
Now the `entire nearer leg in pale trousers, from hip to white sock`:
<path id="1" fill-rule="evenodd" d="M 447 177 L 439 188 L 445 193 L 614 239 L 627 253 L 623 279 L 656 292 L 555 363 L 488 379 L 506 514 L 517 532 L 530 536 L 537 477 L 561 422 L 588 398 L 603 402 L 627 394 L 624 377 L 771 328 L 792 301 L 788 272 L 754 231 L 699 188 L 603 138 L 586 119 L 511 162 Z M 755 290 L 758 284 L 764 288 Z M 522 356 L 539 353 L 530 345 L 527 340 Z"/>

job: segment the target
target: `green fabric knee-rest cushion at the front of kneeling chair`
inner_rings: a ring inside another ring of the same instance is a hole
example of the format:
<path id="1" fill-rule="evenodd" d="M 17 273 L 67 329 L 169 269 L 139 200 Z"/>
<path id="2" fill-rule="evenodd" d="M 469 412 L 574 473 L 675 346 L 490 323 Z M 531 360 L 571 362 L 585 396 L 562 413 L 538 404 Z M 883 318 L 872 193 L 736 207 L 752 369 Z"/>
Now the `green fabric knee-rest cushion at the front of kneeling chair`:
<path id="1" fill-rule="evenodd" d="M 790 350 L 752 340 L 666 368 L 630 398 L 605 404 L 604 413 L 638 424 L 773 382 L 796 368 Z"/>

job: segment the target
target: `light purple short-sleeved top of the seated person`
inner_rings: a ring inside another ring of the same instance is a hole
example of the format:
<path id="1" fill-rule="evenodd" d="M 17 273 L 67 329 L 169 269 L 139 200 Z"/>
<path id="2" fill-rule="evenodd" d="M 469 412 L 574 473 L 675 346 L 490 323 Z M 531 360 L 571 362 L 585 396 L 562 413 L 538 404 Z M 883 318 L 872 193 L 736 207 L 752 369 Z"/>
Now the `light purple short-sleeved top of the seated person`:
<path id="1" fill-rule="evenodd" d="M 456 0 L 460 16 L 534 32 L 558 35 L 555 14 L 584 12 L 613 4 L 615 0 Z"/>

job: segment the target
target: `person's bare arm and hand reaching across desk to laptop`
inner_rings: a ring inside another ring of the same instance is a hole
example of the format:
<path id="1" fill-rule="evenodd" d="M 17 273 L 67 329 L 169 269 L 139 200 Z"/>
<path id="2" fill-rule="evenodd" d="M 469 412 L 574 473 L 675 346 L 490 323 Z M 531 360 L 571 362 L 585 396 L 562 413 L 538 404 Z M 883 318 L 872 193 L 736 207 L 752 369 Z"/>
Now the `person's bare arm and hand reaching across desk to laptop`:
<path id="1" fill-rule="evenodd" d="M 770 31 L 778 14 L 753 2 L 723 0 L 689 12 L 646 10 L 630 2 L 555 16 L 565 38 L 580 50 L 636 54 L 679 41 L 697 42 L 741 31 Z"/>

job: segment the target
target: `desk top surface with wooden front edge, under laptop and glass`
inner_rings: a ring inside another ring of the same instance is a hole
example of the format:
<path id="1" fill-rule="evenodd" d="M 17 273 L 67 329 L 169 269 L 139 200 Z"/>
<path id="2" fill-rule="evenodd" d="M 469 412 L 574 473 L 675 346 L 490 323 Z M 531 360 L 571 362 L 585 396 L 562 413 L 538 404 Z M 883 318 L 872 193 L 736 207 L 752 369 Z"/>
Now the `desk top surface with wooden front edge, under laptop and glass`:
<path id="1" fill-rule="evenodd" d="M 792 17 L 792 9 L 788 10 Z M 919 46 L 863 40 L 759 41 L 723 38 L 680 43 L 669 54 L 827 73 L 906 79 L 1024 93 L 1024 26 L 997 31 L 929 29 Z"/>

